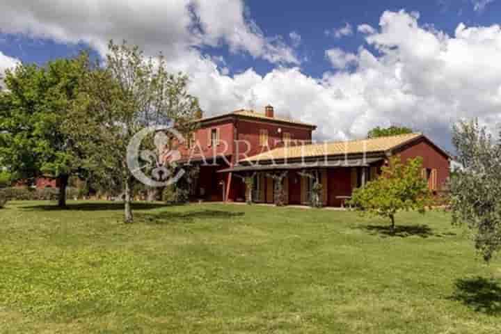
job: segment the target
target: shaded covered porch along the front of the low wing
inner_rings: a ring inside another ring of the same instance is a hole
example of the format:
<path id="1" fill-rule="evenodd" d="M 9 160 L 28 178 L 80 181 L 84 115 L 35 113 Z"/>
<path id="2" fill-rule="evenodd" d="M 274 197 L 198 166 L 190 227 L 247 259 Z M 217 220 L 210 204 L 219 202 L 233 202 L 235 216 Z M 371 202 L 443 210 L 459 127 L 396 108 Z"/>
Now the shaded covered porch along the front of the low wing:
<path id="1" fill-rule="evenodd" d="M 274 204 L 276 186 L 280 182 L 285 205 L 310 205 L 313 186 L 322 186 L 321 205 L 342 207 L 353 192 L 372 180 L 381 168 L 383 159 L 343 159 L 315 163 L 289 163 L 253 166 L 234 166 L 219 170 L 230 173 L 226 200 L 246 200 L 246 178 L 253 178 L 252 201 Z"/>

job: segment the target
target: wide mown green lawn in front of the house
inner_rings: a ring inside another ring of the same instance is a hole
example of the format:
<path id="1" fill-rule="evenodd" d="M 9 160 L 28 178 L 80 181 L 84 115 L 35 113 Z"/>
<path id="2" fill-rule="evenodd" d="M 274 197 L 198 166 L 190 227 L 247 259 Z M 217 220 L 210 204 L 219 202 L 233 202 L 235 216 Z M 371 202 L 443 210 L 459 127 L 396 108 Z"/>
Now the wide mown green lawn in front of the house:
<path id="1" fill-rule="evenodd" d="M 443 212 L 10 202 L 1 333 L 500 333 L 501 261 Z"/>

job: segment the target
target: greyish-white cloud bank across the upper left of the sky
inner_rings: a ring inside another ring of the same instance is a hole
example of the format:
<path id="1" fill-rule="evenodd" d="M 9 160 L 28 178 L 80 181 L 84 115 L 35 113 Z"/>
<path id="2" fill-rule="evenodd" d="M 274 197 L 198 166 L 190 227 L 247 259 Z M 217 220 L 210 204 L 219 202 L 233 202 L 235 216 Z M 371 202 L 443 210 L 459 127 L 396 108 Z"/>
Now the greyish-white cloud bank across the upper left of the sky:
<path id="1" fill-rule="evenodd" d="M 3 33 L 25 33 L 58 42 L 86 42 L 104 53 L 108 40 L 141 45 L 182 58 L 189 47 L 226 44 L 272 63 L 299 61 L 278 37 L 266 37 L 246 18 L 242 0 L 41 0 L 2 1 Z"/>

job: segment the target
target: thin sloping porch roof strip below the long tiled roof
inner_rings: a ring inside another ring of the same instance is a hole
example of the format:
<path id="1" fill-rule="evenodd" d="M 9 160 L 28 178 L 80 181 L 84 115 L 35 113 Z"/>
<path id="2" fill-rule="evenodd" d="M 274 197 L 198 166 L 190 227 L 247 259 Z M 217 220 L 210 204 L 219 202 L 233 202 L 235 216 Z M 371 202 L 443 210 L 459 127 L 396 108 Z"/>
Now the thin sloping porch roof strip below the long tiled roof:
<path id="1" fill-rule="evenodd" d="M 218 173 L 228 172 L 247 172 L 247 171 L 267 171 L 267 170 L 299 170 L 312 168 L 340 168 L 340 167 L 368 167 L 374 162 L 383 160 L 383 158 L 367 158 L 367 159 L 339 159 L 331 161 L 316 161 L 304 164 L 269 164 L 269 165 L 252 165 L 252 166 L 234 166 L 218 170 Z"/>

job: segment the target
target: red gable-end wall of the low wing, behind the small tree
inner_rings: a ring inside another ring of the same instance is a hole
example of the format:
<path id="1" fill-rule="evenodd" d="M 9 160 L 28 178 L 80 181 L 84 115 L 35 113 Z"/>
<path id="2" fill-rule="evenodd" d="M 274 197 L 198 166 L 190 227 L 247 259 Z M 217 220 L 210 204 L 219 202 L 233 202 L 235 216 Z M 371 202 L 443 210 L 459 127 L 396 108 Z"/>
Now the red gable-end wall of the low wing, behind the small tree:
<path id="1" fill-rule="evenodd" d="M 402 161 L 422 157 L 423 168 L 437 170 L 437 190 L 443 189 L 443 186 L 450 176 L 449 157 L 437 150 L 434 145 L 426 139 L 422 139 L 417 143 L 408 145 L 398 152 Z"/>

